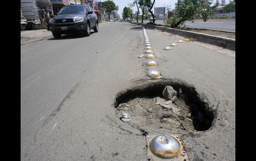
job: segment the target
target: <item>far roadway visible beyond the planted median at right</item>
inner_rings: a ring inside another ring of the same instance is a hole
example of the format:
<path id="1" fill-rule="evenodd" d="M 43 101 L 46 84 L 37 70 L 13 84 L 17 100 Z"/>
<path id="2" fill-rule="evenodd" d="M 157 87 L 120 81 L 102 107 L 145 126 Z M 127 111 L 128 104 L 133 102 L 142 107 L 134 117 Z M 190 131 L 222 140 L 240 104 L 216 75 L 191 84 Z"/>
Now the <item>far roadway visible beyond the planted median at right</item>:
<path id="1" fill-rule="evenodd" d="M 149 21 L 143 21 L 143 23 L 148 23 Z M 164 25 L 163 20 L 157 20 L 156 24 Z M 208 30 L 218 30 L 218 31 L 227 31 L 227 32 L 235 32 L 235 21 L 211 21 L 208 20 L 206 22 L 203 21 L 186 21 L 185 25 L 190 28 L 198 28 L 198 29 L 208 29 Z"/>

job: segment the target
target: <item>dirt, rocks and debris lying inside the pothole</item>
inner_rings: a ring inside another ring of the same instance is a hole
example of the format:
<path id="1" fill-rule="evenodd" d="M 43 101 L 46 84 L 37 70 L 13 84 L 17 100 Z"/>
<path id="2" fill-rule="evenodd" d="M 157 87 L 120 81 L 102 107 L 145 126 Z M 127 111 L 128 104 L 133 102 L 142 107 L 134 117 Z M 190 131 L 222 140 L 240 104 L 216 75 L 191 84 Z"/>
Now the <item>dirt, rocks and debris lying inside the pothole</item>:
<path id="1" fill-rule="evenodd" d="M 142 96 L 119 104 L 118 115 L 123 112 L 130 114 L 132 118 L 130 123 L 139 126 L 178 132 L 207 130 L 211 126 L 210 121 L 203 118 L 202 112 L 193 104 L 193 100 L 186 93 L 183 94 L 181 89 L 176 92 L 170 87 L 166 87 L 163 91 L 165 96 L 155 98 Z"/>

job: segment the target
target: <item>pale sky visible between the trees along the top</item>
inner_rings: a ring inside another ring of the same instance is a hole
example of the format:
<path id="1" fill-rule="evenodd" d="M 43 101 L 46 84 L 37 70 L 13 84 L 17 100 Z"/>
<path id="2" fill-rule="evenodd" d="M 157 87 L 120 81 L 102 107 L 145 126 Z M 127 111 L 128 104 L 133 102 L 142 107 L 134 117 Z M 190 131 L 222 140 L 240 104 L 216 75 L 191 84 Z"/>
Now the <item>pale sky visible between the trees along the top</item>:
<path id="1" fill-rule="evenodd" d="M 98 0 L 98 2 L 104 2 L 106 0 Z M 112 0 L 116 6 L 118 6 L 119 10 L 117 11 L 117 13 L 119 14 L 120 17 L 122 17 L 122 12 L 124 7 L 128 7 L 129 3 L 133 3 L 134 0 Z M 151 0 L 153 2 L 153 0 Z M 178 0 L 155 0 L 155 4 L 154 7 L 167 7 L 171 5 L 171 9 L 173 10 L 175 8 L 175 3 L 177 3 Z M 216 0 L 213 0 L 213 3 L 215 4 Z M 219 3 L 221 2 L 221 0 L 219 0 Z M 225 0 L 226 4 L 229 3 L 229 0 Z M 153 13 L 154 13 L 154 7 L 152 9 Z M 133 13 L 135 13 L 135 11 L 137 11 L 137 7 L 136 5 L 132 8 Z M 139 10 L 142 14 L 141 9 Z"/>

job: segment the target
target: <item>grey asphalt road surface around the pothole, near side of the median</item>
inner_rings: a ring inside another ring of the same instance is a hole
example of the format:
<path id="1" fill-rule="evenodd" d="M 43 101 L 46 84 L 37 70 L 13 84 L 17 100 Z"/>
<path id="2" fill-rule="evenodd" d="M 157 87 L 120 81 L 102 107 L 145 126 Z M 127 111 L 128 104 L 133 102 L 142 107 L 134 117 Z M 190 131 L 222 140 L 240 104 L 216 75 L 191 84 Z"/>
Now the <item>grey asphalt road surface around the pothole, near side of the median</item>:
<path id="1" fill-rule="evenodd" d="M 193 85 L 216 110 L 206 131 L 183 134 L 190 160 L 235 160 L 235 56 L 182 37 L 146 29 L 164 80 Z M 146 160 L 148 134 L 122 122 L 118 92 L 145 79 L 141 26 L 99 24 L 89 37 L 73 35 L 21 45 L 21 160 Z M 161 81 L 161 80 L 155 80 Z"/>

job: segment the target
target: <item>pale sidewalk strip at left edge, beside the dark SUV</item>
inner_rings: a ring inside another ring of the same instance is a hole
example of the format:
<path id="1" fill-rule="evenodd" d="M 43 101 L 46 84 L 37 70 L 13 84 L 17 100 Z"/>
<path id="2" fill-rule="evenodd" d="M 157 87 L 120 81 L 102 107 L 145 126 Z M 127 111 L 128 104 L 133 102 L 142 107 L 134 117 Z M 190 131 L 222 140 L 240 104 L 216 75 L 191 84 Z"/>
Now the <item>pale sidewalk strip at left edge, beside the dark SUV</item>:
<path id="1" fill-rule="evenodd" d="M 21 31 L 20 33 L 21 45 L 28 42 L 44 40 L 47 38 L 53 38 L 52 32 L 47 31 L 47 29 L 26 30 Z"/>

